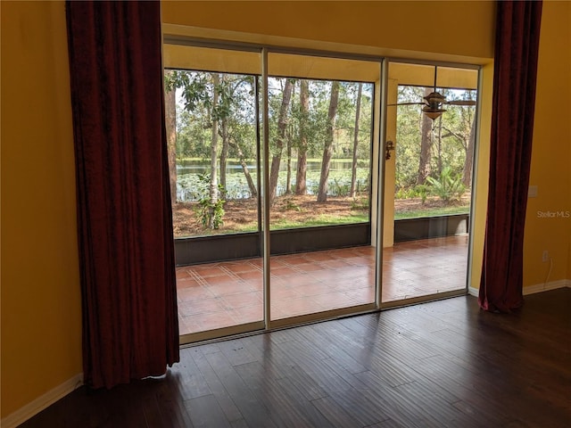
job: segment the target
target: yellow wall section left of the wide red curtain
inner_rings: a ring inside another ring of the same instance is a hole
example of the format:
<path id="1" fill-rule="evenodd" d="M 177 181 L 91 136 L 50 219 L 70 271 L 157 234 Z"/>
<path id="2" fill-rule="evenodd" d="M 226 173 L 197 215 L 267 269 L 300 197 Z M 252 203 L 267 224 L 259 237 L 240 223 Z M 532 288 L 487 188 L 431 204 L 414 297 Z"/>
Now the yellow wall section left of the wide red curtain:
<path id="1" fill-rule="evenodd" d="M 63 3 L 2 4 L 2 417 L 81 368 Z"/>

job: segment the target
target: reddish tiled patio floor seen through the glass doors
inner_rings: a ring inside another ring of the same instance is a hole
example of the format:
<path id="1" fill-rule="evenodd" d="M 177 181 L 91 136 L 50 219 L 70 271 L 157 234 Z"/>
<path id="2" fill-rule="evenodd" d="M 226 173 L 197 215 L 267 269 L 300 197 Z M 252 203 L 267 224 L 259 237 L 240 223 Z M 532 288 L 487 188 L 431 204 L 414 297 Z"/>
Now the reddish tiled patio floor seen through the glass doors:
<path id="1" fill-rule="evenodd" d="M 272 256 L 271 317 L 375 300 L 374 247 Z M 383 301 L 466 287 L 468 235 L 396 243 L 383 252 Z M 262 259 L 177 268 L 180 334 L 261 321 Z"/>

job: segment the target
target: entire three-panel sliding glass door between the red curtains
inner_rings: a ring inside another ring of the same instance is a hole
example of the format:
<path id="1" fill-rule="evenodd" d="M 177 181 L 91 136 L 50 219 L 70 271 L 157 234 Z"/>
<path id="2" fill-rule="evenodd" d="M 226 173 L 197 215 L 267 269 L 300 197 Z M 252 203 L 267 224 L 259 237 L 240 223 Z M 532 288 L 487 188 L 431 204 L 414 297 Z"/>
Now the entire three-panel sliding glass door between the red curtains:
<path id="1" fill-rule="evenodd" d="M 181 342 L 466 292 L 477 70 L 164 59 Z"/>

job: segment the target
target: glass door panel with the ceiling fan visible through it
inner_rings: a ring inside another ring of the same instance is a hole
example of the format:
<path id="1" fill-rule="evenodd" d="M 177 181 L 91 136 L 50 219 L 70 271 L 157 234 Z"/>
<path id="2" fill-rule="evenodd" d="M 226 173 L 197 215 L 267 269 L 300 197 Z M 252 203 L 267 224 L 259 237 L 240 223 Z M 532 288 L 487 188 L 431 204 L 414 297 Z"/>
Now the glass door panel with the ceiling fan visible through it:
<path id="1" fill-rule="evenodd" d="M 388 70 L 382 302 L 465 292 L 477 70 Z"/>

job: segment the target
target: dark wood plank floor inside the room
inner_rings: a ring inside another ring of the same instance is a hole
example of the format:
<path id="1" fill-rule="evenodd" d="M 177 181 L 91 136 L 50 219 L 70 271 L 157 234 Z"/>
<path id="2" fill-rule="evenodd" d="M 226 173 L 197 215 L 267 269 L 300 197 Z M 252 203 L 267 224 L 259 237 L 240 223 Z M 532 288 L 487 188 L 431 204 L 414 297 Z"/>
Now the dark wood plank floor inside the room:
<path id="1" fill-rule="evenodd" d="M 512 315 L 468 296 L 195 346 L 22 426 L 568 427 L 571 289 Z"/>

